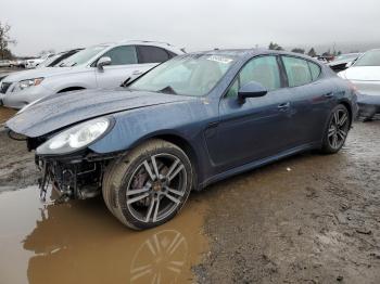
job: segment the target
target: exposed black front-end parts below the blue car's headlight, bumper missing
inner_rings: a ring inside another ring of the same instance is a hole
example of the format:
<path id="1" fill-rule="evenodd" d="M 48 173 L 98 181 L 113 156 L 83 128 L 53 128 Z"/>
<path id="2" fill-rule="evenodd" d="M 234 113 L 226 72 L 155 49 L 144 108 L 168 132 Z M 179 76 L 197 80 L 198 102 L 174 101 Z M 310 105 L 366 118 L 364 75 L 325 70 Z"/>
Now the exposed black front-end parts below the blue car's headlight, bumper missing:
<path id="1" fill-rule="evenodd" d="M 46 192 L 50 184 L 59 194 L 55 203 L 86 199 L 99 195 L 104 170 L 113 158 L 115 155 L 73 159 L 36 156 L 36 165 L 41 171 L 41 178 L 38 182 L 41 201 L 46 201 Z"/>

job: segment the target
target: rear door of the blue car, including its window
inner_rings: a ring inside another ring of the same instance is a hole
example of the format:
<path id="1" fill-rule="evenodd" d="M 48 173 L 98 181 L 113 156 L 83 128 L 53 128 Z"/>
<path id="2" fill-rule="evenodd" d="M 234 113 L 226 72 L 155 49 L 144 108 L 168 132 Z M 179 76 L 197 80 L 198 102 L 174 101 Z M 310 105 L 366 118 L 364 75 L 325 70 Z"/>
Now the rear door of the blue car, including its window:
<path id="1" fill-rule="evenodd" d="M 292 146 L 318 142 L 333 107 L 334 86 L 321 78 L 318 64 L 290 55 L 281 55 L 281 59 L 292 101 Z"/>

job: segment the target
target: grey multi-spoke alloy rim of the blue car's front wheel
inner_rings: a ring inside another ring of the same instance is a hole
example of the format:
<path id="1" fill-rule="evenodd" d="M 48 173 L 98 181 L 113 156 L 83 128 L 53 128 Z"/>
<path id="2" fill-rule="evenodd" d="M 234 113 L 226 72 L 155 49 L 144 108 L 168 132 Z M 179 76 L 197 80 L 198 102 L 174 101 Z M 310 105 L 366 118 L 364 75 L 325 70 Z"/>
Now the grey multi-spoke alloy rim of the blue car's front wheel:
<path id="1" fill-rule="evenodd" d="M 159 222 L 175 211 L 186 196 L 187 172 L 168 153 L 145 158 L 134 171 L 126 191 L 129 212 L 141 222 Z"/>

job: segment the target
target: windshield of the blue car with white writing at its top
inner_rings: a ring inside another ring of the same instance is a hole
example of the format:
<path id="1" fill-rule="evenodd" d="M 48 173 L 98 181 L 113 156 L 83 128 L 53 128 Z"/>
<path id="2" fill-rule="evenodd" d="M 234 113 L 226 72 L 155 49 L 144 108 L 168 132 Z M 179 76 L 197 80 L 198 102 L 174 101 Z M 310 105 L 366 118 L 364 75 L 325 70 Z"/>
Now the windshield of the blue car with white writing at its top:
<path id="1" fill-rule="evenodd" d="M 230 55 L 189 54 L 155 67 L 128 87 L 132 90 L 201 96 L 207 94 L 235 61 Z"/>

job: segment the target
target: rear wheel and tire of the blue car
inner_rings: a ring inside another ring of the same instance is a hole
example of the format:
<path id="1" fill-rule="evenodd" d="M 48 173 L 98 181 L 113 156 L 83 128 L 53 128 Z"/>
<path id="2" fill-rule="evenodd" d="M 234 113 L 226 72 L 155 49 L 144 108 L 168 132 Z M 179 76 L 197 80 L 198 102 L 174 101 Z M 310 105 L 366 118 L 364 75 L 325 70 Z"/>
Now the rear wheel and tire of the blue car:
<path id="1" fill-rule="evenodd" d="M 321 153 L 338 153 L 345 143 L 351 127 L 351 114 L 343 104 L 337 105 L 330 113 L 324 133 Z"/>

